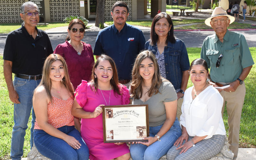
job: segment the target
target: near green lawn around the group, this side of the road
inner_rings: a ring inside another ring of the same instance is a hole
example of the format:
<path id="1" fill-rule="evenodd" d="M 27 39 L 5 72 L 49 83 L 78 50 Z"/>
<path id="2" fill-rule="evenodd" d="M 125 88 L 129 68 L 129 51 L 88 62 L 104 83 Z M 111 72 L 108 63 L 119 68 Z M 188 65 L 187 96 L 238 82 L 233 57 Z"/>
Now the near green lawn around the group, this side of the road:
<path id="1" fill-rule="evenodd" d="M 201 48 L 187 48 L 190 63 L 196 58 L 200 58 Z M 251 47 L 252 58 L 256 62 L 256 47 Z M 13 126 L 13 103 L 8 96 L 8 90 L 3 74 L 3 56 L 0 56 L 0 159 L 7 160 L 10 158 L 12 126 Z M 250 74 L 245 79 L 246 95 L 240 124 L 240 147 L 256 147 L 256 67 L 253 65 Z M 192 86 L 188 81 L 188 87 Z M 227 111 L 224 112 L 224 124 L 228 134 L 228 116 Z M 30 151 L 30 130 L 31 116 L 28 122 L 24 142 L 24 156 L 27 157 Z"/>

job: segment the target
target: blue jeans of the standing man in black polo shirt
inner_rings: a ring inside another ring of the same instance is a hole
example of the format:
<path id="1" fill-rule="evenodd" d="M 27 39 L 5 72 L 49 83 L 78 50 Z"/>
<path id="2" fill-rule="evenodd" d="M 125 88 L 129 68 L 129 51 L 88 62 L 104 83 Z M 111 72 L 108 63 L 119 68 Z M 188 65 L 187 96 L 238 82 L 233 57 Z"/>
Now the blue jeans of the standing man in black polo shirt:
<path id="1" fill-rule="evenodd" d="M 30 129 L 30 148 L 33 147 L 33 129 L 36 120 L 34 109 L 32 107 L 33 92 L 40 80 L 23 79 L 14 77 L 13 86 L 19 95 L 20 104 L 14 103 L 12 128 L 12 143 L 11 143 L 11 158 L 20 160 L 23 155 L 23 144 L 26 129 L 28 128 L 28 119 L 32 108 L 32 126 Z"/>

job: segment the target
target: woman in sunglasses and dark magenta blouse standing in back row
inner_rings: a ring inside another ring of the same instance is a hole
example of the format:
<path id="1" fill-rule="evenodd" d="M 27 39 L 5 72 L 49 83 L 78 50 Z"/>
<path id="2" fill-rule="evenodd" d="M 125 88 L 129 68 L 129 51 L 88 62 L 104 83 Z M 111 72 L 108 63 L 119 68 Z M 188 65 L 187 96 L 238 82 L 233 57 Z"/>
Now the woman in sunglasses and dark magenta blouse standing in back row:
<path id="1" fill-rule="evenodd" d="M 92 46 L 81 41 L 84 38 L 84 30 L 82 20 L 72 20 L 68 25 L 66 42 L 59 44 L 53 52 L 66 60 L 70 81 L 75 89 L 82 80 L 91 80 L 94 65 Z"/>

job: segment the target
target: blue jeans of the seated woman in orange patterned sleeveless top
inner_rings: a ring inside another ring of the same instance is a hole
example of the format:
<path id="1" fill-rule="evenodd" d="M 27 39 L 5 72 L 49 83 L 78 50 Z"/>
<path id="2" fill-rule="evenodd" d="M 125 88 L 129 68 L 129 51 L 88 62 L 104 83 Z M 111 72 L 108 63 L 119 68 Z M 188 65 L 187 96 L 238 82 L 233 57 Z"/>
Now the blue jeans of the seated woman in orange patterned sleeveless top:
<path id="1" fill-rule="evenodd" d="M 75 129 L 75 126 L 63 126 L 58 128 L 63 133 L 74 137 L 81 143 L 79 149 L 74 149 L 62 139 L 53 137 L 44 130 L 34 130 L 34 142 L 37 150 L 44 156 L 52 160 L 88 160 L 89 149 Z"/>

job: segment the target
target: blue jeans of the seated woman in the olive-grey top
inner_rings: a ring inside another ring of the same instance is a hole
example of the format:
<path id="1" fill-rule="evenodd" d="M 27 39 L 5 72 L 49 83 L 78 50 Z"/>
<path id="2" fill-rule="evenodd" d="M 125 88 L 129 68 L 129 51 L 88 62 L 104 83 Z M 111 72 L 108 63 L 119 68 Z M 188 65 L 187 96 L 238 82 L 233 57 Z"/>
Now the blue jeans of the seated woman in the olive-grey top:
<path id="1" fill-rule="evenodd" d="M 163 125 L 149 127 L 149 136 L 154 137 Z M 158 160 L 166 155 L 167 151 L 173 146 L 173 143 L 180 137 L 181 129 L 178 118 L 168 132 L 150 146 L 143 144 L 133 144 L 130 147 L 130 153 L 133 160 Z"/>

